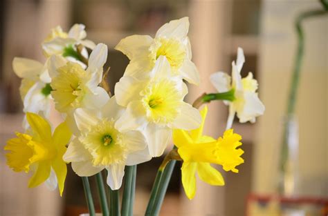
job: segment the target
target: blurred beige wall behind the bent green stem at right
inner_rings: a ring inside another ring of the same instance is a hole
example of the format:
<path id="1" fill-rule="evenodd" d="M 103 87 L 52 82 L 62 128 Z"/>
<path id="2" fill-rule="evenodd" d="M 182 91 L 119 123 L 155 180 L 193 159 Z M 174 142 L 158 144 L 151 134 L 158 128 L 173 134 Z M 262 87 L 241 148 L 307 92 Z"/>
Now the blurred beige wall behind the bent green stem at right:
<path id="1" fill-rule="evenodd" d="M 293 20 L 298 12 L 320 8 L 317 1 L 264 1 L 260 46 L 260 97 L 265 115 L 257 125 L 253 190 L 274 193 L 280 154 L 282 121 L 286 110 L 297 45 Z M 299 122 L 300 195 L 328 194 L 327 82 L 328 17 L 304 22 L 306 35 L 296 117 Z"/>

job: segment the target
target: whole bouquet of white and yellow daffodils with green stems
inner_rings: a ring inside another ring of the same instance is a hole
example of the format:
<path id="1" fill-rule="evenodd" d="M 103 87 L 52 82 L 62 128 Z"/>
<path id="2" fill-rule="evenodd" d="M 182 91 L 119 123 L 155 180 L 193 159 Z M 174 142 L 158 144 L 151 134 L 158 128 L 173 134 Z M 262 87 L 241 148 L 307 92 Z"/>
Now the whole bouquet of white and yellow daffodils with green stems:
<path id="1" fill-rule="evenodd" d="M 114 92 L 104 70 L 107 46 L 86 39 L 82 24 L 69 32 L 52 29 L 42 43 L 45 63 L 18 57 L 12 63 L 22 78 L 19 90 L 26 117 L 25 132 L 16 132 L 17 137 L 4 148 L 8 166 L 15 172 L 33 173 L 29 187 L 45 183 L 51 189 L 58 187 L 62 195 L 66 166 L 71 164 L 82 177 L 90 215 L 95 215 L 95 209 L 88 177 L 97 179 L 102 215 L 132 215 L 136 165 L 163 155 L 171 141 L 174 148 L 158 168 L 145 215 L 158 215 L 176 161 L 181 161 L 189 199 L 196 193 L 196 173 L 210 185 L 223 186 L 224 178 L 211 164 L 237 173 L 236 166 L 244 162 L 239 148 L 242 137 L 231 129 L 235 115 L 242 123 L 253 123 L 263 114 L 264 105 L 252 73 L 245 78 L 240 75 L 245 60 L 242 48 L 233 61 L 232 77 L 224 72 L 210 76 L 217 92 L 204 93 L 192 105 L 183 101 L 188 93 L 185 81 L 200 82 L 188 29 L 188 17 L 184 17 L 165 23 L 154 38 L 122 39 L 116 50 L 130 61 Z M 218 139 L 203 135 L 208 112 L 203 104 L 212 100 L 229 107 L 227 130 Z M 55 129 L 51 112 L 62 116 Z M 109 197 L 102 173 L 107 174 Z"/>

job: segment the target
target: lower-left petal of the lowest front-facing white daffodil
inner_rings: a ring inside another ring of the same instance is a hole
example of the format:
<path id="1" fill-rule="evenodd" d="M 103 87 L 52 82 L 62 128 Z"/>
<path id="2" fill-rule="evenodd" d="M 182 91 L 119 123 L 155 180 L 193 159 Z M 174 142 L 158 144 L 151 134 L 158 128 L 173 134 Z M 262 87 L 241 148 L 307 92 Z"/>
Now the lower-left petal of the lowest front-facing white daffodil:
<path id="1" fill-rule="evenodd" d="M 91 154 L 84 148 L 77 137 L 71 141 L 66 153 L 63 155 L 63 160 L 66 162 L 91 161 L 91 159 Z"/>

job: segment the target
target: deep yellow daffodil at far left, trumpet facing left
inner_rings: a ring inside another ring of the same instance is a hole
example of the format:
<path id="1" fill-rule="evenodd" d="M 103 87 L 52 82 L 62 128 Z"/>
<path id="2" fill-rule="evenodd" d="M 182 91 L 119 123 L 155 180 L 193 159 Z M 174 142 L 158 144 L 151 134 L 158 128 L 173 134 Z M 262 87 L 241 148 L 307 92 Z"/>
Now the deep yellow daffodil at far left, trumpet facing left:
<path id="1" fill-rule="evenodd" d="M 9 151 L 6 154 L 7 164 L 15 172 L 28 173 L 35 169 L 28 183 L 30 188 L 47 181 L 53 170 L 62 195 L 67 173 L 62 156 L 66 152 L 66 144 L 71 139 L 71 132 L 66 124 L 62 123 L 51 135 L 51 126 L 44 118 L 32 112 L 28 112 L 26 117 L 32 132 L 30 135 L 17 132 L 17 138 L 7 141 L 4 147 Z"/>

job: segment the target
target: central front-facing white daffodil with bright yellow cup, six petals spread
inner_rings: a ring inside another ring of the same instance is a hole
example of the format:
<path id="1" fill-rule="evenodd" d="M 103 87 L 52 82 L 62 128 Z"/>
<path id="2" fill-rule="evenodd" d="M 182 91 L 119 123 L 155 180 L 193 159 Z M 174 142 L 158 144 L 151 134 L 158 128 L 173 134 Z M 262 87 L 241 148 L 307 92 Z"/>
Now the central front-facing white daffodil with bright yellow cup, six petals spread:
<path id="1" fill-rule="evenodd" d="M 115 86 L 116 101 L 127 108 L 116 122 L 118 130 L 145 131 L 152 157 L 163 154 L 172 135 L 172 129 L 192 130 L 201 124 L 199 110 L 183 101 L 187 86 L 179 77 L 170 76 L 170 63 L 159 57 L 152 79 L 140 81 L 122 77 Z"/>

